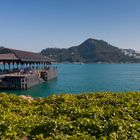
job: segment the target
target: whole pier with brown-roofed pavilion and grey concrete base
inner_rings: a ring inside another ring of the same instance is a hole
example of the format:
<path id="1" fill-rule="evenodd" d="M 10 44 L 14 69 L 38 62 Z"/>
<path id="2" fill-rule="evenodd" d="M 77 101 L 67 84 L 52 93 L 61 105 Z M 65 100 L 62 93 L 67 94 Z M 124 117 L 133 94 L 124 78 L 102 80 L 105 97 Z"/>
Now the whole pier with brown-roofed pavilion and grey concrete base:
<path id="1" fill-rule="evenodd" d="M 9 48 L 0 50 L 0 89 L 28 89 L 57 77 L 54 60 L 40 54 Z"/>

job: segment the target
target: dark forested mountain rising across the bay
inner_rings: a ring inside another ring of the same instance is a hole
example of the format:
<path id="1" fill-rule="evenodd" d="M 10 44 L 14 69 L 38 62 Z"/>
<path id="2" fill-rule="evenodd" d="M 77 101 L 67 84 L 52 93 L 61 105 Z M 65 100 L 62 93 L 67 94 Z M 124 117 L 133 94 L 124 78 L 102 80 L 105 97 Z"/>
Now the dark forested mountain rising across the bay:
<path id="1" fill-rule="evenodd" d="M 82 44 L 70 48 L 46 48 L 41 51 L 57 62 L 83 63 L 133 63 L 140 62 L 133 56 L 125 55 L 122 49 L 103 40 L 87 39 Z"/>

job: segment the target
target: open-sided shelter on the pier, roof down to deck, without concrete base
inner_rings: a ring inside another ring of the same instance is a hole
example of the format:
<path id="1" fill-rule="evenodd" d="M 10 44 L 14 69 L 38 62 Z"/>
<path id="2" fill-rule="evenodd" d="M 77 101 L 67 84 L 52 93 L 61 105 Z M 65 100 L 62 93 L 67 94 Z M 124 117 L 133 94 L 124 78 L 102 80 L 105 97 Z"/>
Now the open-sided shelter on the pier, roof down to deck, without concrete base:
<path id="1" fill-rule="evenodd" d="M 49 69 L 52 62 L 55 61 L 40 53 L 9 48 L 0 50 L 0 74 Z"/>

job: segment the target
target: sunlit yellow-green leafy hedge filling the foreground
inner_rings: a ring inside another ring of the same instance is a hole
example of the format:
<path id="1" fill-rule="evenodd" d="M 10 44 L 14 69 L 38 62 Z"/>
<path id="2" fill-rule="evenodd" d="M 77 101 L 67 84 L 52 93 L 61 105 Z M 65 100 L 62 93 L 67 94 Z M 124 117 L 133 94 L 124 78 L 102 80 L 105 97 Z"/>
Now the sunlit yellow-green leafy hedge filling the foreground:
<path id="1" fill-rule="evenodd" d="M 0 94 L 0 139 L 138 140 L 140 92 Z"/>

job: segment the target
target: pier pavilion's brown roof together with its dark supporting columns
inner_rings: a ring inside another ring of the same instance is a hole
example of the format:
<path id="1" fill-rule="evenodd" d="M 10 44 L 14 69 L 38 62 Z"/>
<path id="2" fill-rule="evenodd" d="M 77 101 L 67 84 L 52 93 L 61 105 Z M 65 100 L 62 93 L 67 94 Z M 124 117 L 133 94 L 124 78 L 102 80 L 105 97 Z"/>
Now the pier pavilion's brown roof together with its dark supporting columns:
<path id="1" fill-rule="evenodd" d="M 34 66 L 35 68 L 45 67 L 48 64 L 55 62 L 54 60 L 40 54 L 22 50 L 15 50 L 10 48 L 1 48 L 0 49 L 0 63 L 3 64 L 3 68 L 5 70 L 5 65 L 8 64 L 8 69 L 11 69 L 11 65 L 17 65 L 23 68 L 23 66 Z"/>

